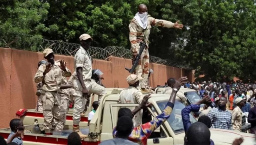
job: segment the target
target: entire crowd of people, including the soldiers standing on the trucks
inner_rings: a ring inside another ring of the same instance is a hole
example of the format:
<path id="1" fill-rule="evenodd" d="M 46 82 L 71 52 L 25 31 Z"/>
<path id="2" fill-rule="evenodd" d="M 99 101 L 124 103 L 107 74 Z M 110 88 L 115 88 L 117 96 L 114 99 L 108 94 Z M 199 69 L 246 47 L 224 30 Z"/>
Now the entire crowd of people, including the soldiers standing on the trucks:
<path id="1" fill-rule="evenodd" d="M 195 82 L 190 83 L 187 77 L 176 80 L 170 78 L 166 83 L 164 94 L 169 94 L 170 98 L 163 112 L 155 118 L 150 118 L 149 122 L 142 123 L 143 108 L 150 106 L 148 103 L 150 87 L 148 77 L 153 70 L 149 69 L 148 37 L 152 26 L 182 29 L 183 25 L 179 21 L 172 23 L 166 20 L 158 20 L 147 14 L 145 4 L 140 4 L 138 13 L 131 20 L 130 42 L 131 51 L 134 58 L 140 50 L 139 42 L 145 41 L 146 48 L 140 56 L 141 62 L 136 67 L 135 74 L 127 77 L 129 87 L 120 93 L 119 103 L 139 104 L 138 107 L 121 108 L 118 111 L 118 121 L 113 128 L 113 139 L 103 141 L 100 145 L 147 145 L 148 137 L 163 124 L 172 114 L 176 93 L 181 87 L 195 89 L 201 100 L 195 104 L 186 106 L 182 110 L 182 121 L 185 130 L 185 145 L 213 145 L 210 139 L 209 128 L 230 129 L 241 132 L 242 113 L 248 112 L 248 122 L 251 123 L 251 133 L 255 134 L 256 129 L 256 84 L 243 84 L 240 82 L 212 83 Z M 65 125 L 66 113 L 70 106 L 69 100 L 74 100 L 73 105 L 73 132 L 67 138 L 68 145 L 81 145 L 81 139 L 88 137 L 80 131 L 79 123 L 86 104 L 86 96 L 89 93 L 97 94 L 99 101 L 94 101 L 93 110 L 89 113 L 88 120 L 93 118 L 101 97 L 106 94 L 106 89 L 102 84 L 92 79 L 92 59 L 88 50 L 93 39 L 88 34 L 79 37 L 80 48 L 74 56 L 74 72 L 71 73 L 66 67 L 64 60 L 55 61 L 54 52 L 47 48 L 44 50 L 44 59 L 38 64 L 38 71 L 34 81 L 37 83 L 38 103 L 37 111 L 42 111 L 44 115 L 44 134 L 52 135 L 54 131 L 62 131 Z M 70 77 L 69 80 L 66 77 Z M 98 77 L 97 77 L 98 78 Z M 101 80 L 101 78 L 100 78 Z M 181 97 L 183 102 L 186 97 Z M 214 104 L 214 106 L 210 106 Z M 199 112 L 200 105 L 205 104 L 198 122 L 191 124 L 189 114 Z M 230 111 L 229 111 L 230 110 Z M 151 115 L 150 115 L 151 117 Z M 152 119 L 152 120 L 151 120 Z M 24 136 L 24 125 L 20 119 L 12 119 L 10 122 L 11 133 L 7 142 L 1 139 L 1 144 L 15 143 L 22 145 Z M 2 141 L 3 140 L 3 141 Z M 240 145 L 243 138 L 235 139 L 233 145 Z"/>

